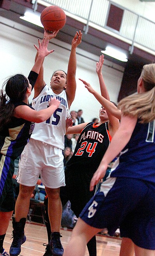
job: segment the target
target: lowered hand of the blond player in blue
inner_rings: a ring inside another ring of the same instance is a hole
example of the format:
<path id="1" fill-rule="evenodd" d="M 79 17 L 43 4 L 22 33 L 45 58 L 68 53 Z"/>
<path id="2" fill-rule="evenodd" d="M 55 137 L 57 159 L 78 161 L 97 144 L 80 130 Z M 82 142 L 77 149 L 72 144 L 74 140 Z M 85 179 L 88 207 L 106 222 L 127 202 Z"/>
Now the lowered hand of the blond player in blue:
<path id="1" fill-rule="evenodd" d="M 108 165 L 105 164 L 105 165 L 99 165 L 98 169 L 95 171 L 94 175 L 93 175 L 93 178 L 91 179 L 91 182 L 90 182 L 90 191 L 93 191 L 94 190 L 94 186 L 96 184 L 98 184 L 98 182 L 105 176 L 105 173 L 107 171 L 107 167 Z"/>

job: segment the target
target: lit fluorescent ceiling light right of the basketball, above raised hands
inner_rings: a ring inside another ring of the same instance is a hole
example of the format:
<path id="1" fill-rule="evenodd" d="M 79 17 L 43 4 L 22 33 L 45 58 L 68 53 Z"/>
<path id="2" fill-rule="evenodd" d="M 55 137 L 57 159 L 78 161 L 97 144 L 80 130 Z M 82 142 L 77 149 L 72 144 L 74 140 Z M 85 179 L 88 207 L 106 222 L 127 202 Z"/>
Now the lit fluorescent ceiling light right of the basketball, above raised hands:
<path id="1" fill-rule="evenodd" d="M 117 60 L 121 60 L 121 61 L 124 61 L 124 62 L 127 62 L 127 56 L 122 53 L 121 51 L 119 50 L 116 50 L 110 46 L 107 46 L 105 51 L 101 51 L 103 54 L 106 54 L 108 56 L 111 56 Z"/>

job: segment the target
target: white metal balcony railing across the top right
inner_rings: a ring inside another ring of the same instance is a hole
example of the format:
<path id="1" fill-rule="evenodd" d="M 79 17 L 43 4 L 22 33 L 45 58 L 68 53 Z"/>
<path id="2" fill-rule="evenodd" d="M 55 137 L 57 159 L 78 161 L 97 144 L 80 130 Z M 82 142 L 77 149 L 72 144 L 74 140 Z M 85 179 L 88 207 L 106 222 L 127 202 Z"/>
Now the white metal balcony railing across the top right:
<path id="1" fill-rule="evenodd" d="M 67 13 L 76 16 L 75 19 L 84 19 L 86 23 L 85 33 L 88 32 L 89 26 L 94 25 L 95 27 L 97 25 L 101 31 L 104 28 L 112 32 L 113 36 L 122 37 L 123 41 L 130 41 L 131 53 L 135 43 L 139 45 L 139 48 L 145 47 L 148 52 L 149 50 L 155 51 L 155 23 L 110 0 L 38 0 L 38 3 L 57 5 Z M 123 10 L 119 31 L 106 25 L 111 4 Z"/>

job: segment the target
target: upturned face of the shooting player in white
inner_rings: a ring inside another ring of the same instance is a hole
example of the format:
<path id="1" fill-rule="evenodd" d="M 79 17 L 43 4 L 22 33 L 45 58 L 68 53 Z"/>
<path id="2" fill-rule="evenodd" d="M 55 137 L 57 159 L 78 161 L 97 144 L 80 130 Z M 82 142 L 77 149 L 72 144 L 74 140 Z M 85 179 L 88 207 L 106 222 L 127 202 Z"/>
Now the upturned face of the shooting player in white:
<path id="1" fill-rule="evenodd" d="M 64 90 L 66 88 L 66 74 L 62 70 L 57 70 L 51 79 L 50 86 L 52 89 L 57 90 L 57 88 Z"/>

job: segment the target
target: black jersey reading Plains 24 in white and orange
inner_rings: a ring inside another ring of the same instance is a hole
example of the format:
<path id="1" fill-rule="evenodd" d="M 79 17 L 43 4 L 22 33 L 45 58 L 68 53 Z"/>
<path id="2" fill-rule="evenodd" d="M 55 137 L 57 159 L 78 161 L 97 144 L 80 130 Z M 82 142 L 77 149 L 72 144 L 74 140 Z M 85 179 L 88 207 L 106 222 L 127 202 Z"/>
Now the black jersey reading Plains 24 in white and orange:
<path id="1" fill-rule="evenodd" d="M 108 123 L 101 125 L 89 123 L 82 130 L 74 150 L 74 154 L 67 162 L 67 169 L 88 169 L 94 173 L 105 154 L 111 136 L 108 131 Z"/>

